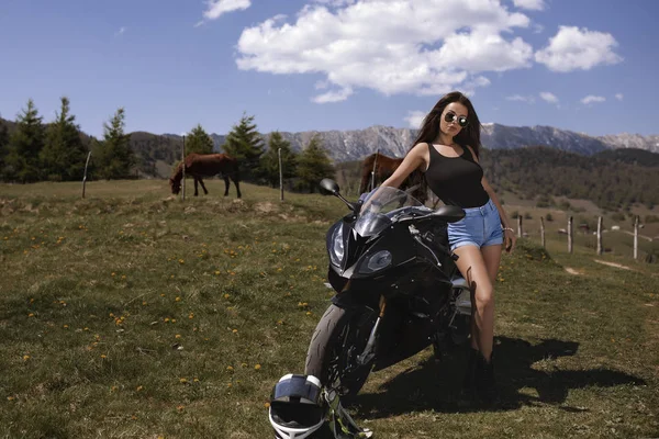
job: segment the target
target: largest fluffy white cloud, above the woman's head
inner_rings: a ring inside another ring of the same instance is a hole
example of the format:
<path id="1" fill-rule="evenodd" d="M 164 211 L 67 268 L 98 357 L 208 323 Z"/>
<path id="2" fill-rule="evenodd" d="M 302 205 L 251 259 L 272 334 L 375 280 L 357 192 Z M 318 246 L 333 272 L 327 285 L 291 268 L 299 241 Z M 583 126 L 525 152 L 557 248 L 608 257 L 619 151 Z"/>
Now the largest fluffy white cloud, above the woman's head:
<path id="1" fill-rule="evenodd" d="M 499 1 L 321 2 L 306 4 L 294 22 L 276 16 L 245 29 L 238 68 L 320 74 L 339 91 L 313 101 L 336 102 L 357 88 L 384 94 L 472 92 L 489 85 L 487 72 L 532 64 L 532 46 L 511 36 L 529 25 L 528 18 Z"/>

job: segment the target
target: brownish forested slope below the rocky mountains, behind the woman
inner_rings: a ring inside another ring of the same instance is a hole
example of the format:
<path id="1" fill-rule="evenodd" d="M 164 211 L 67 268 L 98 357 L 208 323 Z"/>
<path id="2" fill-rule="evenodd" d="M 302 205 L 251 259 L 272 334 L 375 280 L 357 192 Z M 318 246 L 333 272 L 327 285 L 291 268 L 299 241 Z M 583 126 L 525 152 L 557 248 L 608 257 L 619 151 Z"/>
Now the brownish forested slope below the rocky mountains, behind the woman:
<path id="1" fill-rule="evenodd" d="M 659 205 L 659 154 L 641 151 L 639 156 L 635 149 L 605 153 L 588 157 L 544 146 L 483 149 L 481 164 L 499 190 L 537 199 L 540 205 L 550 202 L 547 196 L 591 200 L 612 211 L 628 210 L 635 203 L 649 209 Z M 638 157 L 658 165 L 636 165 Z M 337 180 L 355 190 L 360 162 L 343 162 L 336 168 Z"/>

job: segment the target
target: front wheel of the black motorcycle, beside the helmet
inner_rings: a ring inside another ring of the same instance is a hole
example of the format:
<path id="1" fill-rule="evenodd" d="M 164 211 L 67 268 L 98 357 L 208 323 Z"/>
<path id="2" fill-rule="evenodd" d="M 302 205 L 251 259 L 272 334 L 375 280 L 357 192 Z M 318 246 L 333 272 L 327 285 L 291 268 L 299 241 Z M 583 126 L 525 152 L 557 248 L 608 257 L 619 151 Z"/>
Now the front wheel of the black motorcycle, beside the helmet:
<path id="1" fill-rule="evenodd" d="M 366 348 L 376 317 L 368 308 L 330 305 L 311 337 L 304 373 L 345 399 L 356 396 L 372 368 L 372 361 L 359 364 L 357 356 Z"/>

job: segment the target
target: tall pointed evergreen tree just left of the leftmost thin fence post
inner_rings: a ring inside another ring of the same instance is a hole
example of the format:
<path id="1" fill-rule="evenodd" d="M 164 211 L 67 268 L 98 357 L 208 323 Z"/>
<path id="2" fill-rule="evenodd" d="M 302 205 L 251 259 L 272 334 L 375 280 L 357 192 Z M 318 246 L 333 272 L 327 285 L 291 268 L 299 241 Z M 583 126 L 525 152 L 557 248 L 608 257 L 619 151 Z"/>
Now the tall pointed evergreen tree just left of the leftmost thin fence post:
<path id="1" fill-rule="evenodd" d="M 69 100 L 62 99 L 62 110 L 48 126 L 46 145 L 41 151 L 44 177 L 48 180 L 68 181 L 82 178 L 87 148 L 80 138 L 76 116 L 69 114 Z"/>

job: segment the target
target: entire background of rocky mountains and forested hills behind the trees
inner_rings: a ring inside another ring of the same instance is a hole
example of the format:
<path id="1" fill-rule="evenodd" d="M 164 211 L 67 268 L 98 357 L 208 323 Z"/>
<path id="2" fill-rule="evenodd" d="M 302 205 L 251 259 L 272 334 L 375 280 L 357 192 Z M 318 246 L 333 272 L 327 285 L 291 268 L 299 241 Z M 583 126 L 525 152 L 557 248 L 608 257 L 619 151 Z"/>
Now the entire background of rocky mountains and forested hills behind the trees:
<path id="1" fill-rule="evenodd" d="M 12 122 L 0 120 L 0 123 L 7 123 L 10 131 L 13 128 Z M 337 178 L 355 181 L 359 160 L 376 150 L 401 157 L 416 133 L 409 128 L 371 126 L 355 131 L 281 134 L 298 151 L 312 136 L 320 136 L 337 164 Z M 92 142 L 86 134 L 81 136 L 85 144 Z M 212 134 L 211 137 L 215 149 L 221 150 L 225 136 Z M 181 136 L 134 132 L 130 138 L 142 177 L 167 178 L 171 175 L 181 154 Z M 269 134 L 264 138 L 267 143 Z M 648 149 L 629 148 L 629 138 Z M 654 140 L 652 136 L 623 134 L 597 138 L 548 126 L 484 124 L 483 166 L 494 184 L 526 198 L 587 199 L 610 210 L 627 209 L 634 203 L 651 207 L 659 204 L 659 192 L 656 191 L 659 188 L 659 154 L 651 151 Z M 541 147 L 529 149 L 529 145 Z M 611 149 L 614 147 L 621 148 Z"/>

